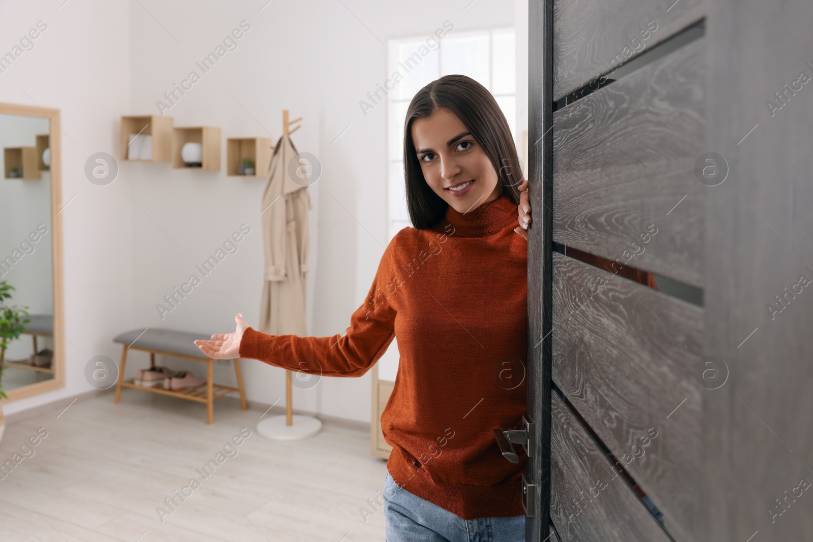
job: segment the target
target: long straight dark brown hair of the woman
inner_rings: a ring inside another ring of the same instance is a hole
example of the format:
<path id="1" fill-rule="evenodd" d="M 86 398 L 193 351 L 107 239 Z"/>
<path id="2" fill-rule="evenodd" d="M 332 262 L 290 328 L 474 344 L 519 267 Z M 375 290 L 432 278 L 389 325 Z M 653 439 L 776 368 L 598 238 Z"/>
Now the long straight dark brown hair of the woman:
<path id="1" fill-rule="evenodd" d="M 412 123 L 432 116 L 443 107 L 455 115 L 477 143 L 485 150 L 494 170 L 498 172 L 500 196 L 520 204 L 522 168 L 516 154 L 511 128 L 497 100 L 483 85 L 462 75 L 442 76 L 420 89 L 406 110 L 404 124 L 404 179 L 406 206 L 412 225 L 418 229 L 432 228 L 446 215 L 449 204 L 429 187 L 420 169 L 412 142 Z"/>

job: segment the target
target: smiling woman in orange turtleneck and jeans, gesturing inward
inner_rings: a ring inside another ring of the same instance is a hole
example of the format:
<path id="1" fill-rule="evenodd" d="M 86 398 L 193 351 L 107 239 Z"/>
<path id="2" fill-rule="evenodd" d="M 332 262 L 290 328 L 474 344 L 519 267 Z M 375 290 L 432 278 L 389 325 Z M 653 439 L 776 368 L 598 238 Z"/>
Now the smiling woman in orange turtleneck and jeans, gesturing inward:
<path id="1" fill-rule="evenodd" d="M 215 359 L 361 376 L 398 336 L 398 375 L 381 415 L 393 447 L 383 492 L 390 542 L 525 539 L 525 456 L 508 462 L 493 436 L 520 427 L 526 412 L 530 219 L 519 164 L 485 87 L 460 75 L 433 81 L 406 113 L 415 227 L 389 242 L 346 334 L 269 336 L 237 314 L 235 332 L 195 341 Z"/>

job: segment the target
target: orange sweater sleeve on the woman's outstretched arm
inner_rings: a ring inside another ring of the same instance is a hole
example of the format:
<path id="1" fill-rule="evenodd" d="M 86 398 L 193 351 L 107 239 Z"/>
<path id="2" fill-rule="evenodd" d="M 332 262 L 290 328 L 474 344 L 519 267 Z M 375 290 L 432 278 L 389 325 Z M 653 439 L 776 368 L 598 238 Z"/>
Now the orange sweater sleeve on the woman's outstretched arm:
<path id="1" fill-rule="evenodd" d="M 309 375 L 361 376 L 378 361 L 395 337 L 391 305 L 397 282 L 392 265 L 393 237 L 363 304 L 350 316 L 344 333 L 327 337 L 267 335 L 253 327 L 240 342 L 240 357 Z"/>

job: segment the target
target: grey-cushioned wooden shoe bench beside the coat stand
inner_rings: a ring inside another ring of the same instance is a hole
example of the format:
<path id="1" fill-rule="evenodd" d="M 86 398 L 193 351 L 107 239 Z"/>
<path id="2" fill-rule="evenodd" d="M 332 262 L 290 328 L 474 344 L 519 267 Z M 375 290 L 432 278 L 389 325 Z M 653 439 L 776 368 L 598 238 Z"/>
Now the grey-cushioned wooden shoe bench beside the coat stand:
<path id="1" fill-rule="evenodd" d="M 248 409 L 246 404 L 246 392 L 243 390 L 243 379 L 240 373 L 240 360 L 233 359 L 234 372 L 237 376 L 237 388 L 215 384 L 212 378 L 212 364 L 218 360 L 208 358 L 194 344 L 194 340 L 210 339 L 211 335 L 200 333 L 179 332 L 172 329 L 156 329 L 147 327 L 146 329 L 134 329 L 133 331 L 121 333 L 116 336 L 114 342 L 124 345 L 121 353 L 121 366 L 119 367 L 119 379 L 115 384 L 115 402 L 121 398 L 121 388 L 136 388 L 146 392 L 161 393 L 171 397 L 179 397 L 189 401 L 198 401 L 207 405 L 207 423 L 212 423 L 214 419 L 214 401 L 218 397 L 223 397 L 229 393 L 239 392 L 240 403 L 243 410 Z M 135 384 L 133 380 L 124 381 L 124 366 L 127 363 L 127 353 L 129 350 L 142 350 L 150 353 L 150 366 L 155 366 L 155 354 L 160 353 L 165 356 L 176 358 L 193 359 L 199 362 L 207 362 L 206 384 L 197 388 L 186 388 L 181 390 L 169 390 L 164 388 L 151 388 Z"/>

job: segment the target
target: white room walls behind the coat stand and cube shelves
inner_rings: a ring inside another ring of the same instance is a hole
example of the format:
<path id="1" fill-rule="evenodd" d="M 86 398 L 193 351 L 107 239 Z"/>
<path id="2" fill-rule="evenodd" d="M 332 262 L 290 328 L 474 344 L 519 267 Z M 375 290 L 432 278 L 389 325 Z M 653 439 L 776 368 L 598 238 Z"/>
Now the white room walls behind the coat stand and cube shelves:
<path id="1" fill-rule="evenodd" d="M 73 128 L 76 137 L 95 145 L 78 153 L 70 141 L 64 145 L 66 199 L 77 192 L 93 194 L 86 195 L 84 207 L 77 206 L 75 214 L 65 217 L 66 290 L 76 290 L 66 300 L 68 329 L 76 333 L 75 342 L 93 348 L 72 353 L 68 344 L 68 388 L 33 398 L 26 408 L 89 388 L 81 382 L 84 363 L 98 353 L 117 359 L 118 349 L 111 343 L 117 332 L 146 326 L 222 332 L 233 329 L 237 311 L 250 322 L 258 318 L 263 264 L 259 206 L 265 181 L 227 177 L 224 169 L 179 171 L 163 163 L 123 163 L 115 183 L 95 187 L 81 178 L 80 166 L 91 151 L 118 156 L 114 150 L 120 115 L 159 114 L 155 102 L 195 70 L 201 79 L 166 111 L 176 126 L 219 126 L 224 141 L 276 139 L 283 109 L 289 109 L 292 118 L 304 117 L 293 142 L 298 150 L 318 156 L 323 167 L 320 180 L 311 187 L 308 327 L 313 336 L 331 336 L 346 331 L 386 245 L 386 111 L 376 107 L 364 116 L 359 107 L 359 100 L 386 79 L 386 40 L 428 35 L 444 20 L 460 31 L 514 24 L 510 3 L 506 7 L 483 0 L 468 7 L 465 2 L 428 0 L 403 4 L 306 0 L 270 2 L 263 8 L 264 4 L 141 0 L 106 3 L 103 8 L 100 3 L 91 10 L 70 2 L 56 15 L 80 14 L 85 19 L 76 24 L 87 33 L 49 35 L 52 28 L 58 29 L 59 19 L 54 17 L 54 26 L 43 35 L 53 40 L 53 47 L 46 48 L 43 39 L 37 44 L 40 50 L 30 53 L 40 54 L 37 60 L 43 63 L 62 66 L 69 63 L 67 58 L 75 58 L 72 69 L 81 64 L 98 77 L 87 79 L 80 102 L 78 92 L 72 99 L 63 94 L 66 87 L 70 90 L 84 81 L 75 74 L 63 75 L 69 84 L 63 86 L 59 80 L 47 100 L 63 109 L 63 119 L 74 119 L 65 127 L 68 132 Z M 27 20 L 33 24 L 43 17 L 37 13 L 31 8 L 3 13 L 0 28 L 7 32 L 2 35 L 21 35 Z M 91 31 L 89 20 L 94 17 L 104 22 Z M 7 28 L 9 20 L 20 23 Z M 195 62 L 215 50 L 242 20 L 250 29 L 237 41 L 237 49 L 203 74 Z M 108 34 L 115 34 L 115 39 Z M 103 44 L 85 53 L 85 42 L 93 41 Z M 25 58 L 28 54 L 20 59 L 21 66 L 22 61 L 33 64 L 34 58 Z M 90 60 L 82 54 L 90 54 Z M 10 74 L 11 70 L 0 74 L 0 80 Z M 46 87 L 45 80 L 36 85 L 29 81 L 0 85 L 0 97 L 26 102 L 18 89 Z M 98 204 L 96 213 L 86 207 L 92 202 Z M 71 206 L 76 203 L 78 197 Z M 87 217 L 84 222 L 79 211 Z M 160 319 L 156 303 L 241 223 L 248 223 L 252 231 L 237 254 L 229 255 Z M 82 256 L 85 276 L 79 267 Z M 143 364 L 146 356 L 133 360 Z M 194 362 L 171 363 L 201 374 L 201 366 Z M 131 364 L 128 376 L 136 365 Z M 228 383 L 231 369 L 225 362 L 221 365 L 215 378 Z M 250 401 L 270 404 L 284 397 L 285 371 L 254 360 L 243 367 Z M 311 390 L 294 388 L 293 405 L 361 423 L 370 419 L 370 396 L 369 373 L 358 379 L 324 378 Z M 19 409 L 18 404 L 9 404 L 5 411 Z"/>

